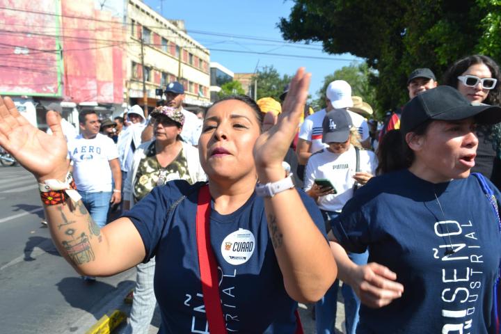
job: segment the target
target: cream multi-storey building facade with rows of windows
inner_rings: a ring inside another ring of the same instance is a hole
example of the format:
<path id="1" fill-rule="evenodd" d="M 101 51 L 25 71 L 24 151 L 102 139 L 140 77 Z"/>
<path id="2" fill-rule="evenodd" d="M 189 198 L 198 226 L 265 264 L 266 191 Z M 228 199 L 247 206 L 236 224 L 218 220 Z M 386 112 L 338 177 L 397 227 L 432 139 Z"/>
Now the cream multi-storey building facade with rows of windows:
<path id="1" fill-rule="evenodd" d="M 182 20 L 162 17 L 140 0 L 127 0 L 127 79 L 124 99 L 144 105 L 144 87 L 151 111 L 170 81 L 179 81 L 185 108 L 210 104 L 210 53 L 186 33 Z"/>

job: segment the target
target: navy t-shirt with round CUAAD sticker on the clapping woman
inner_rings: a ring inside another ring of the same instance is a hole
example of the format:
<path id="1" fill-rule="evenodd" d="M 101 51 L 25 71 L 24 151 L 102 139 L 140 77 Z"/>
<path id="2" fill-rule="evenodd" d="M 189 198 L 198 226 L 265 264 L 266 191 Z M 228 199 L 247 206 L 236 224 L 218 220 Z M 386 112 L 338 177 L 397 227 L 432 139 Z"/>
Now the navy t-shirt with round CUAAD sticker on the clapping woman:
<path id="1" fill-rule="evenodd" d="M 125 213 L 138 229 L 148 261 L 156 255 L 154 290 L 160 305 L 160 333 L 209 333 L 200 284 L 196 211 L 200 182 L 176 180 L 157 186 Z M 312 220 L 325 235 L 324 220 L 298 191 Z M 184 200 L 167 215 L 169 207 Z M 232 214 L 218 214 L 211 202 L 211 245 L 218 262 L 219 294 L 228 333 L 263 333 L 273 322 L 296 328 L 296 302 L 285 291 L 269 239 L 262 198 L 251 196 Z"/>

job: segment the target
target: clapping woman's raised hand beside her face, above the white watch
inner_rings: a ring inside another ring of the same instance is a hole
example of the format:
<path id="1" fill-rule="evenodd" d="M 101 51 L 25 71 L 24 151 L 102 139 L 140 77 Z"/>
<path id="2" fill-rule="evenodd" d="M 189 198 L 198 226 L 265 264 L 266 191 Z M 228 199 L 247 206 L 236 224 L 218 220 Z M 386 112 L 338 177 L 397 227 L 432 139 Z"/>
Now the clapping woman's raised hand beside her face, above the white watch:
<path id="1" fill-rule="evenodd" d="M 310 73 L 305 73 L 303 67 L 299 68 L 290 83 L 289 93 L 285 97 L 277 124 L 264 132 L 255 142 L 254 159 L 260 182 L 269 182 L 271 179 L 277 181 L 285 176 L 282 161 L 296 134 L 308 98 L 310 78 Z M 277 173 L 280 170 L 281 176 Z"/>

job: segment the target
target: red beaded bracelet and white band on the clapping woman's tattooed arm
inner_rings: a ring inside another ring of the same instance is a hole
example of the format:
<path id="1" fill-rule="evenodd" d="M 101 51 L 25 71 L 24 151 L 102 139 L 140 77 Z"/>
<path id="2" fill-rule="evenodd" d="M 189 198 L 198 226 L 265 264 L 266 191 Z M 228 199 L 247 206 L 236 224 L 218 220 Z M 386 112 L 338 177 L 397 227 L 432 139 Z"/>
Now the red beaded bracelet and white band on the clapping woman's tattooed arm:
<path id="1" fill-rule="evenodd" d="M 66 175 L 66 181 L 46 180 L 45 183 L 38 184 L 40 189 L 40 198 L 45 205 L 58 205 L 72 198 L 75 202 L 80 200 L 81 196 L 77 192 L 77 185 L 74 183 L 70 173 Z"/>

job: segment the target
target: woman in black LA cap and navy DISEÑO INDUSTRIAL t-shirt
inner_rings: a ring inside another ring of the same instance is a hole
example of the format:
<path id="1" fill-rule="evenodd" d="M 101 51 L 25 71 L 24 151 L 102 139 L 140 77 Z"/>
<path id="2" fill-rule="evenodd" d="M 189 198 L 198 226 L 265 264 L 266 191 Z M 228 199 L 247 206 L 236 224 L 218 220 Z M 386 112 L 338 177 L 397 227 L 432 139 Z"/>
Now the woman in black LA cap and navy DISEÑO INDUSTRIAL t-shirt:
<path id="1" fill-rule="evenodd" d="M 331 224 L 339 278 L 363 303 L 357 333 L 494 333 L 500 225 L 482 184 L 501 194 L 470 169 L 475 123 L 500 120 L 448 86 L 406 104 L 406 168 L 372 178 Z M 367 266 L 349 261 L 367 248 Z"/>

